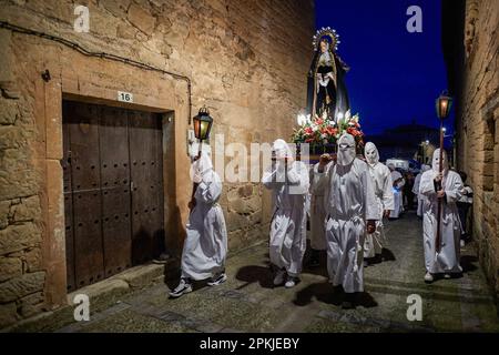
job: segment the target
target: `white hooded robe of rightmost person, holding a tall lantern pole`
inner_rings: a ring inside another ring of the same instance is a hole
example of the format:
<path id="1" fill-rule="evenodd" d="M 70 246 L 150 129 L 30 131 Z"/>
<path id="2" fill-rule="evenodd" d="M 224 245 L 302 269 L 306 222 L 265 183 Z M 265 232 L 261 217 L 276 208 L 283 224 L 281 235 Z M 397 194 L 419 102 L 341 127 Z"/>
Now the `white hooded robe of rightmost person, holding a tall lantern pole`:
<path id="1" fill-rule="evenodd" d="M 460 221 L 456 201 L 460 197 L 462 181 L 454 171 L 447 171 L 444 175 L 442 186 L 446 197 L 441 203 L 441 250 L 440 253 L 436 253 L 438 199 L 434 186 L 435 174 L 432 170 L 425 172 L 419 184 L 419 193 L 425 196 L 422 220 L 425 266 L 427 272 L 432 274 L 460 273 L 462 272 L 459 265 Z"/>

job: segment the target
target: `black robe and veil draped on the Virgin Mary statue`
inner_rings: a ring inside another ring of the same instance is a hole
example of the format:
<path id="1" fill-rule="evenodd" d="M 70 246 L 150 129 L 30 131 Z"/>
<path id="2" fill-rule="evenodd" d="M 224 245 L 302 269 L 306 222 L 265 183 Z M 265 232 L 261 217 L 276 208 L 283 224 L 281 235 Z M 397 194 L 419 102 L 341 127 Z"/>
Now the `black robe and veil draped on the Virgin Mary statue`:
<path id="1" fill-rule="evenodd" d="M 308 81 L 307 81 L 307 113 L 312 113 L 312 108 L 314 104 L 314 90 L 316 90 L 315 87 L 315 73 L 318 65 L 318 60 L 320 58 L 320 51 L 316 51 L 314 54 L 314 60 L 312 61 L 310 70 L 308 72 Z M 333 80 L 329 80 L 329 83 L 327 85 L 327 90 L 329 91 L 329 95 L 335 98 L 332 103 L 328 105 L 329 111 L 329 119 L 334 119 L 338 112 L 342 112 L 345 114 L 349 109 L 350 104 L 348 101 L 348 92 L 345 85 L 345 73 L 346 73 L 346 64 L 339 60 L 339 58 L 332 52 L 329 54 L 334 58 L 335 64 L 336 64 L 336 87 L 333 82 Z M 317 93 L 317 101 L 316 101 L 316 114 L 320 114 L 322 103 L 326 100 L 325 98 L 325 90 L 324 88 L 319 89 L 319 92 Z"/>

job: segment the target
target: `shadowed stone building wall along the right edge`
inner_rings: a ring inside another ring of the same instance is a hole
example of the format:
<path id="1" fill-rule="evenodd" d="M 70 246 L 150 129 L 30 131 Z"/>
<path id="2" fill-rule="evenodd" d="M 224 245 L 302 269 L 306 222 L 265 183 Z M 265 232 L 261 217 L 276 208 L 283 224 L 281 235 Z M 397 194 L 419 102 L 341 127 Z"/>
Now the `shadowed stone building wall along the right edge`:
<path id="1" fill-rule="evenodd" d="M 456 101 L 457 169 L 475 193 L 472 235 L 499 295 L 499 2 L 444 1 L 442 43 Z"/>

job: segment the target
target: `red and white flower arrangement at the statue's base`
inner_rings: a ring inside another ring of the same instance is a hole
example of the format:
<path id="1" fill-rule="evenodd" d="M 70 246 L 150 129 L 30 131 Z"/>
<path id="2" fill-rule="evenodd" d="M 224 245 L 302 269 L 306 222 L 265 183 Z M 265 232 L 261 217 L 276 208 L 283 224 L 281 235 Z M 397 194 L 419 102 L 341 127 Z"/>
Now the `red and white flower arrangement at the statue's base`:
<path id="1" fill-rule="evenodd" d="M 330 146 L 335 148 L 337 140 L 343 133 L 349 133 L 355 138 L 357 150 L 364 148 L 364 133 L 360 130 L 358 113 L 350 116 L 347 112 L 344 119 L 338 122 L 329 120 L 327 114 L 302 116 L 298 120 L 299 126 L 294 130 L 292 140 L 294 143 L 308 143 L 313 152 L 328 152 Z"/>

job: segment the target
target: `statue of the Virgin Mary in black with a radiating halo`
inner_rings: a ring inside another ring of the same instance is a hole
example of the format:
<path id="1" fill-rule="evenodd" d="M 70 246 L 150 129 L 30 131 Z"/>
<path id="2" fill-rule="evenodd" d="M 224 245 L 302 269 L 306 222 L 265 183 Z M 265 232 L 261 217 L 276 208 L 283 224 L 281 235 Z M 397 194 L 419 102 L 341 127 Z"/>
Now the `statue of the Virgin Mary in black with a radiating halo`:
<path id="1" fill-rule="evenodd" d="M 348 67 L 337 55 L 338 34 L 323 28 L 314 36 L 314 60 L 308 72 L 307 112 L 314 116 L 327 112 L 329 120 L 338 121 L 350 109 L 344 75 Z M 340 116 L 340 115 L 339 115 Z"/>

